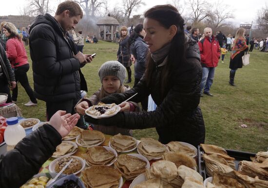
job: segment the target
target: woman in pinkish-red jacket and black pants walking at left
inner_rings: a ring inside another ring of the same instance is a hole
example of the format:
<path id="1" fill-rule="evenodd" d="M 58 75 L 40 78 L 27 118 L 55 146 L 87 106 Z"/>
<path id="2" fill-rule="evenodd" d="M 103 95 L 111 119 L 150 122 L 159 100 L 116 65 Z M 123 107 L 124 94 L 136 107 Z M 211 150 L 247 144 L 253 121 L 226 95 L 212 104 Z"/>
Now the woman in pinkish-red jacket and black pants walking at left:
<path id="1" fill-rule="evenodd" d="M 27 71 L 30 68 L 27 54 L 17 28 L 13 23 L 7 22 L 5 25 L 3 25 L 3 32 L 5 36 L 8 37 L 8 40 L 6 42 L 6 55 L 10 61 L 11 67 L 15 72 L 16 82 L 19 81 L 30 98 L 30 101 L 24 105 L 37 105 L 34 91 L 31 88 L 27 77 Z M 12 91 L 12 101 L 16 103 L 18 98 L 18 85 L 16 85 Z"/>

